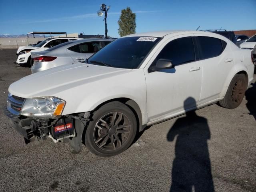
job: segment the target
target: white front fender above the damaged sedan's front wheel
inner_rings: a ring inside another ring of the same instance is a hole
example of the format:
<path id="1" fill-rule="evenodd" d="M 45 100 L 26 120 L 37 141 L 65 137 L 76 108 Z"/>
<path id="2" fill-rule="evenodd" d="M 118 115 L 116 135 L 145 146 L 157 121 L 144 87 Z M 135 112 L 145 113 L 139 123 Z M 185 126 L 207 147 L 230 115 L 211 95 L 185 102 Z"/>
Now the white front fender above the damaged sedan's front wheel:
<path id="1" fill-rule="evenodd" d="M 73 93 L 72 97 L 65 97 L 65 92 L 57 94 L 59 98 L 66 98 L 63 115 L 93 111 L 109 100 L 128 98 L 138 104 L 142 124 L 147 123 L 146 81 L 143 69 L 74 87 L 68 91 Z"/>

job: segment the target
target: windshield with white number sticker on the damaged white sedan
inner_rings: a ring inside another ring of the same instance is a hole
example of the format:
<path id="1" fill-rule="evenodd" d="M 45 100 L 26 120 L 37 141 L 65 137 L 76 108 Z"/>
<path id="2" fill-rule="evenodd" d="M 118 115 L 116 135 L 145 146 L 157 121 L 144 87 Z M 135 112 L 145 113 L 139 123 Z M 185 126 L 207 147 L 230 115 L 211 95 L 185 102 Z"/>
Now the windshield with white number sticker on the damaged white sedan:
<path id="1" fill-rule="evenodd" d="M 88 63 L 116 68 L 138 68 L 159 40 L 157 37 L 119 38 L 91 56 Z"/>

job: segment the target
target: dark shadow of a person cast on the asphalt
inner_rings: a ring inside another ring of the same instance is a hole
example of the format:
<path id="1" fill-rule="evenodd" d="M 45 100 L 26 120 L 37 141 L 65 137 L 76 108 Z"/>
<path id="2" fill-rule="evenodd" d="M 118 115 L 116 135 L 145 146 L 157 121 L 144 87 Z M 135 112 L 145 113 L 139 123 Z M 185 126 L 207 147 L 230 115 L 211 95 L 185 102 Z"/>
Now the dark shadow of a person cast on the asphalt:
<path id="1" fill-rule="evenodd" d="M 193 102 L 196 106 L 194 98 L 187 98 L 184 106 Z M 207 144 L 211 134 L 207 119 L 197 116 L 195 111 L 186 112 L 185 117 L 176 120 L 167 139 L 172 142 L 176 136 L 170 192 L 191 192 L 193 187 L 195 192 L 213 192 Z"/>

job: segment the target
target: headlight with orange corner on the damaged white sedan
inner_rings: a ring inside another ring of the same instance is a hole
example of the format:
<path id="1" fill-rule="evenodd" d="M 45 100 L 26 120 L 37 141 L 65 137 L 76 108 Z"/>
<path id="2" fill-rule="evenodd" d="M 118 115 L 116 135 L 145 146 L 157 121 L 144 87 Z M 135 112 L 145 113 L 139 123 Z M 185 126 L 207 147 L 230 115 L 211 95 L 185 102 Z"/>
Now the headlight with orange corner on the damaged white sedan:
<path id="1" fill-rule="evenodd" d="M 55 97 L 30 98 L 24 101 L 21 115 L 56 117 L 62 114 L 66 102 Z"/>

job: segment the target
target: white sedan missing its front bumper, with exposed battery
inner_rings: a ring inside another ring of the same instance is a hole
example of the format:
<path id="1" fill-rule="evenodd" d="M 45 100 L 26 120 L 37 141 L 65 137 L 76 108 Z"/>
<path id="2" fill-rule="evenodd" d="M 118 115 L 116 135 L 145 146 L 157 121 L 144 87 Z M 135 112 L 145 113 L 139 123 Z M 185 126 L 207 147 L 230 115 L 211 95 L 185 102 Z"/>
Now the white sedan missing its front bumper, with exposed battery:
<path id="1" fill-rule="evenodd" d="M 9 87 L 6 115 L 26 143 L 39 138 L 82 140 L 91 152 L 113 156 L 137 131 L 215 102 L 240 105 L 253 80 L 251 51 L 202 31 L 131 34 L 88 63 L 26 76 Z"/>

